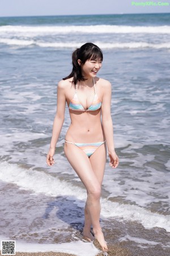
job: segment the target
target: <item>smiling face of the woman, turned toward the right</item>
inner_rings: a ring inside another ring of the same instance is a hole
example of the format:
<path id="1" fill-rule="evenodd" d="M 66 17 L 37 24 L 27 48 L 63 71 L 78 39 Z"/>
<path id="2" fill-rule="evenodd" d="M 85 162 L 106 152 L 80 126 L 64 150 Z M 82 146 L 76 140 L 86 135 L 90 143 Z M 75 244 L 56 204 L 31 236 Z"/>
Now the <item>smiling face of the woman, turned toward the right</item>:
<path id="1" fill-rule="evenodd" d="M 78 63 L 80 65 L 81 61 L 78 60 Z M 95 77 L 97 75 L 97 72 L 100 70 L 101 65 L 101 60 L 86 60 L 86 62 L 81 65 L 83 77 L 85 77 L 86 79 Z"/>

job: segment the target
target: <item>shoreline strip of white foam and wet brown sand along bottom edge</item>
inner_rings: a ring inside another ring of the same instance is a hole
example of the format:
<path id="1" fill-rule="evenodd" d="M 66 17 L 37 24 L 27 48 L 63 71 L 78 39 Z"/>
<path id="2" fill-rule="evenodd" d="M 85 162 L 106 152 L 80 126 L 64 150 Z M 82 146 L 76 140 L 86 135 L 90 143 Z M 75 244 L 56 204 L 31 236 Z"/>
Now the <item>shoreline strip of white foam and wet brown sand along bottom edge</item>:
<path id="1" fill-rule="evenodd" d="M 102 222 L 105 241 L 107 241 L 108 244 L 108 256 L 170 255 L 170 233 L 166 232 L 164 229 L 146 229 L 135 221 L 120 222 L 112 220 L 112 222 L 110 222 L 108 220 L 103 220 Z M 17 241 L 14 236 L 10 237 L 10 240 L 15 239 L 16 241 L 16 256 L 102 256 L 103 253 L 101 247 L 97 244 L 97 241 L 95 240 L 93 243 L 85 242 L 80 235 L 80 227 L 78 229 L 79 231 L 74 233 L 75 227 L 73 228 L 70 226 L 69 231 L 74 234 L 74 237 L 65 237 L 64 241 L 64 237 L 62 237 L 62 234 L 60 233 L 58 236 L 55 235 L 56 242 L 54 243 L 53 240 L 53 243 L 50 244 L 45 243 L 46 241 L 43 241 L 44 243 L 42 243 L 41 240 L 39 240 L 39 242 L 37 241 L 38 243 L 32 243 L 33 241 L 35 242 L 35 237 L 32 237 L 33 240 L 30 241 L 31 243 Z M 27 250 L 28 245 L 30 248 L 29 252 Z M 58 247 L 58 245 L 61 247 Z M 24 252 L 24 250 L 26 251 Z"/>

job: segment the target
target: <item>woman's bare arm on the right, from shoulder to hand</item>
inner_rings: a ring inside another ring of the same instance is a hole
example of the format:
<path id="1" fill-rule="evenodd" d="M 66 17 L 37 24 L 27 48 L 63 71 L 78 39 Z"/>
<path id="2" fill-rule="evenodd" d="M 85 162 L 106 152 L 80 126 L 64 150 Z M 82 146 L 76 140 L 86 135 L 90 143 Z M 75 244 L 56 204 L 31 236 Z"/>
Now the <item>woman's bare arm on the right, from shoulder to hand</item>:
<path id="1" fill-rule="evenodd" d="M 103 100 L 101 106 L 102 112 L 102 123 L 105 138 L 108 146 L 108 154 L 110 157 L 110 166 L 116 168 L 118 166 L 118 156 L 116 155 L 114 149 L 114 139 L 113 139 L 113 123 L 111 117 L 111 97 L 112 97 L 112 86 L 109 81 L 105 81 L 103 92 Z"/>

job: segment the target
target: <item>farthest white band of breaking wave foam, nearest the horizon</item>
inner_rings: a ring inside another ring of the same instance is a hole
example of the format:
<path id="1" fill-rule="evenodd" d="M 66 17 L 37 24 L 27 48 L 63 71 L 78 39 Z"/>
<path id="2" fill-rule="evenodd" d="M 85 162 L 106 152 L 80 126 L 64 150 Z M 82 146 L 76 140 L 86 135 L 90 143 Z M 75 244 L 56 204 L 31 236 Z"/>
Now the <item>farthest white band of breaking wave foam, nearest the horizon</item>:
<path id="1" fill-rule="evenodd" d="M 49 34 L 170 34 L 170 26 L 1 26 L 0 33 L 38 36 Z"/>

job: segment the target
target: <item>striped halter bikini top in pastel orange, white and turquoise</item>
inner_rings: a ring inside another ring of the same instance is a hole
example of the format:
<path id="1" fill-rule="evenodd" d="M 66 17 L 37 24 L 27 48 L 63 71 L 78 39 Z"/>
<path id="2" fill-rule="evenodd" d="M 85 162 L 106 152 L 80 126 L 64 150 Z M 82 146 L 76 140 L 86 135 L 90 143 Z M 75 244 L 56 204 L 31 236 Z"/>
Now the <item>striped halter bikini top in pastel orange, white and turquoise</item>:
<path id="1" fill-rule="evenodd" d="M 95 111 L 97 109 L 101 108 L 101 101 L 99 100 L 97 94 L 96 94 L 96 88 L 95 88 L 95 82 L 94 82 L 94 100 L 92 101 L 92 104 L 88 109 L 84 109 L 82 104 L 80 103 L 77 95 L 77 86 L 75 85 L 75 94 L 73 99 L 70 101 L 69 109 L 75 110 L 75 111 L 82 111 L 82 112 L 88 112 L 88 111 Z"/>

